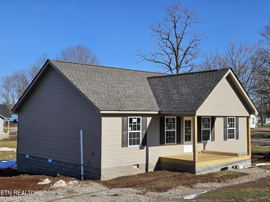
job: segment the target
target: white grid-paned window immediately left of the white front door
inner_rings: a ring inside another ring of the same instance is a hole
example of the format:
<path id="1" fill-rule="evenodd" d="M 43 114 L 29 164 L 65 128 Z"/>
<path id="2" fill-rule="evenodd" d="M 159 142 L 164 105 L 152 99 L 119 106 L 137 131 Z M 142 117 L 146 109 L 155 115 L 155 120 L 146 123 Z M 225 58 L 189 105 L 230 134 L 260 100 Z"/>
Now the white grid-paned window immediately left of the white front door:
<path id="1" fill-rule="evenodd" d="M 165 144 L 176 143 L 176 117 L 165 117 Z"/>

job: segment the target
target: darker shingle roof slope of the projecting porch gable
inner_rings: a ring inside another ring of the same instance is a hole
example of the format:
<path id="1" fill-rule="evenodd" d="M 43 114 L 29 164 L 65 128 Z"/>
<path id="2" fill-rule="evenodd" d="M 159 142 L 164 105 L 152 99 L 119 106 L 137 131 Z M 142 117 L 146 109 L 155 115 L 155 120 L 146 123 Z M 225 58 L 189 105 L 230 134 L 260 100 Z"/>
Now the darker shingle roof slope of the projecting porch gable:
<path id="1" fill-rule="evenodd" d="M 196 111 L 230 68 L 148 78 L 160 111 Z"/>

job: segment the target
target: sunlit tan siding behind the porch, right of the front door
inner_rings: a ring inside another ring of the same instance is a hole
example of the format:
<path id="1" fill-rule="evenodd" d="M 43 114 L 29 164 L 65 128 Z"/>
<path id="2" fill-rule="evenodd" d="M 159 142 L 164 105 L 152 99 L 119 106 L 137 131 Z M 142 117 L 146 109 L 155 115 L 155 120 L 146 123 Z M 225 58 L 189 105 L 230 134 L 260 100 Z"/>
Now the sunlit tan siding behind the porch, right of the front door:
<path id="1" fill-rule="evenodd" d="M 247 154 L 247 118 L 239 117 L 238 121 L 239 140 L 224 141 L 224 118 L 217 117 L 215 120 L 215 141 L 198 142 L 198 151 L 203 150 L 203 144 L 206 144 L 206 150 Z"/>

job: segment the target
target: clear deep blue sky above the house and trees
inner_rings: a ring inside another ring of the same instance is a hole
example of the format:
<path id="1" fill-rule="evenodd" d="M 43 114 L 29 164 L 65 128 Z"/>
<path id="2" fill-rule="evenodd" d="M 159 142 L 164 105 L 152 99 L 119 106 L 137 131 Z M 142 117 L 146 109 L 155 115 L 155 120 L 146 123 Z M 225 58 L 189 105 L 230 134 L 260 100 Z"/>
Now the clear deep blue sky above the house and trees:
<path id="1" fill-rule="evenodd" d="M 206 33 L 203 50 L 238 38 L 257 42 L 256 30 L 268 23 L 269 0 L 182 0 L 197 7 Z M 12 1 L 0 0 L 0 76 L 26 68 L 41 54 L 50 58 L 70 44 L 85 44 L 105 66 L 157 71 L 155 64 L 136 65 L 135 48 L 153 49 L 149 25 L 172 1 Z"/>

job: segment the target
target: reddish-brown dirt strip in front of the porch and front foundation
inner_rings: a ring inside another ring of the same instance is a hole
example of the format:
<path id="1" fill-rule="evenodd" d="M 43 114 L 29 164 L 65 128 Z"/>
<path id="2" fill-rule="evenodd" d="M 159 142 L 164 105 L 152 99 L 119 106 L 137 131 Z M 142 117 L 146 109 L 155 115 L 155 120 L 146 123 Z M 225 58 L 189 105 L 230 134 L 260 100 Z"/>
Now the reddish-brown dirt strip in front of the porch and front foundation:
<path id="1" fill-rule="evenodd" d="M 177 186 L 193 188 L 193 185 L 197 183 L 225 183 L 228 180 L 237 179 L 244 175 L 248 174 L 238 172 L 228 173 L 227 171 L 223 171 L 218 173 L 208 173 L 205 175 L 193 175 L 190 173 L 154 171 L 141 173 L 135 176 L 117 177 L 112 180 L 96 180 L 95 182 L 100 183 L 107 188 L 134 188 L 141 190 L 145 189 L 144 192 L 165 192 Z"/>

